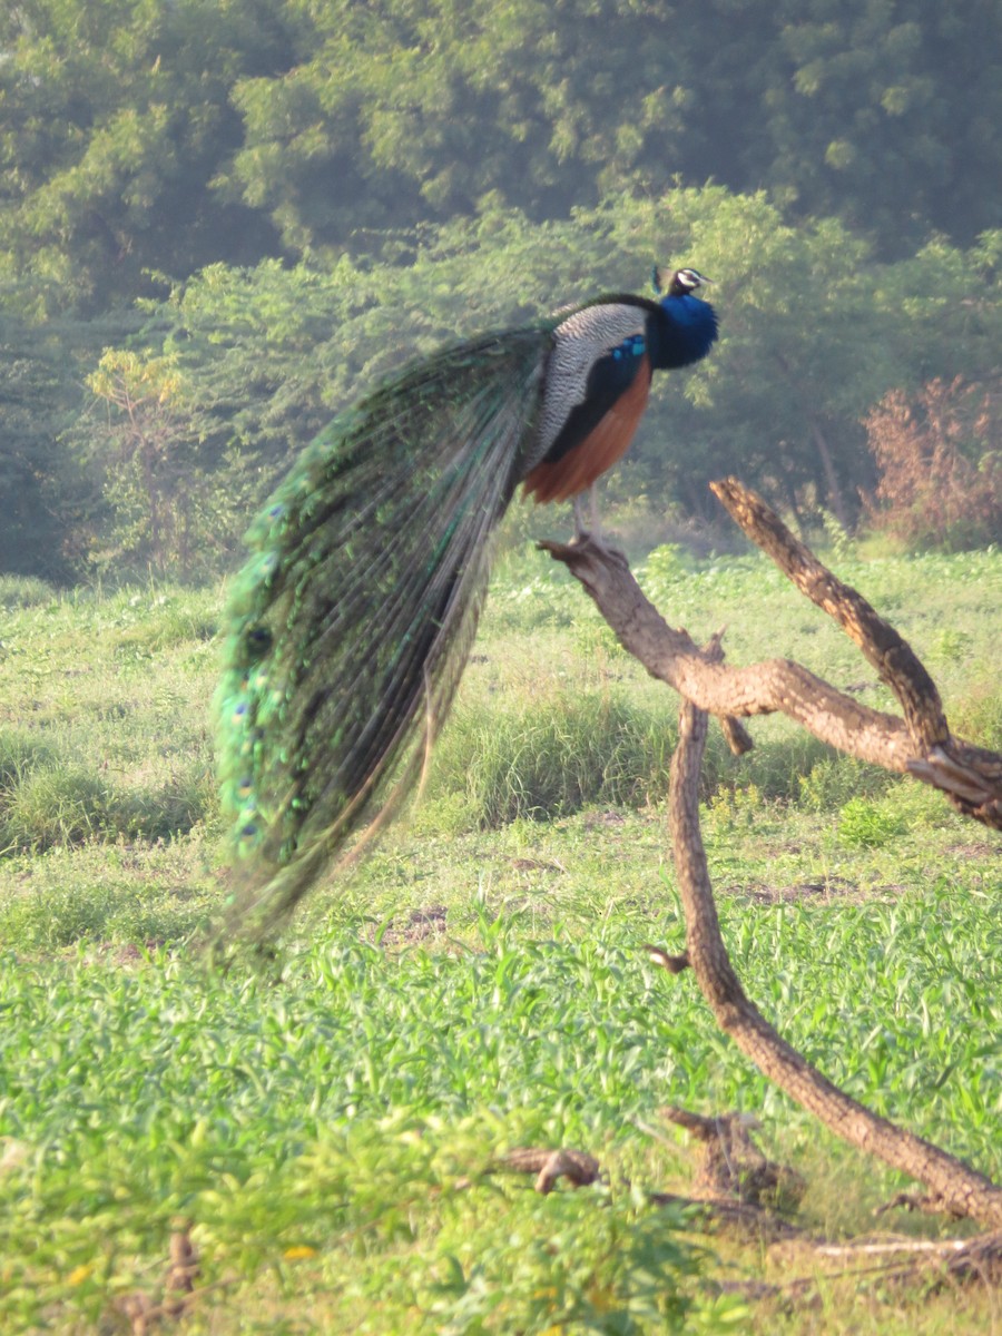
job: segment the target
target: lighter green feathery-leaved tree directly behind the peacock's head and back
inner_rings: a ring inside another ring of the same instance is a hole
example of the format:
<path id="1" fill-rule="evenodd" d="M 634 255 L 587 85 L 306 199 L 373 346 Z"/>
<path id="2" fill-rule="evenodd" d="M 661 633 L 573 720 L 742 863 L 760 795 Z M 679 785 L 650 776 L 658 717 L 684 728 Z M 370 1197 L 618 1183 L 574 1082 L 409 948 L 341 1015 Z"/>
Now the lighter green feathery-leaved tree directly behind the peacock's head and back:
<path id="1" fill-rule="evenodd" d="M 406 361 L 603 290 L 640 290 L 653 259 L 719 279 L 721 339 L 656 386 L 608 484 L 621 497 L 703 514 L 708 480 L 740 468 L 802 520 L 824 506 L 851 525 L 876 482 L 867 411 L 927 367 L 987 367 L 998 346 L 998 238 L 970 253 L 937 242 L 887 266 L 836 220 L 796 228 L 764 195 L 723 187 L 616 195 L 545 224 L 492 207 L 383 244 L 393 259 L 212 266 L 150 307 L 144 337 L 178 358 L 199 466 L 234 514 L 248 516 L 334 413 Z"/>

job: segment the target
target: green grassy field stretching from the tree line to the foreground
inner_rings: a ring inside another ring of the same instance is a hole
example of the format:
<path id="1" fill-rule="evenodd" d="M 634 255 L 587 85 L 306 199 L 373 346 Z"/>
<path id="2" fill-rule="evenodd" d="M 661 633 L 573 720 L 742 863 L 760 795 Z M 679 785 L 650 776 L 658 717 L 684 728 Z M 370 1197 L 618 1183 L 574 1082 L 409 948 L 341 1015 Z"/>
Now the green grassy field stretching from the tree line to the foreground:
<path id="1" fill-rule="evenodd" d="M 958 732 L 1002 745 L 997 553 L 839 573 L 912 641 Z M 758 557 L 659 549 L 643 582 L 731 661 L 784 655 L 891 707 Z M 198 1250 L 178 1329 L 1002 1329 L 973 1287 L 812 1277 L 649 1193 L 697 1156 L 665 1104 L 739 1109 L 816 1234 L 955 1226 L 819 1132 L 715 1030 L 679 949 L 663 795 L 675 700 L 534 552 L 494 581 L 420 807 L 266 967 L 202 951 L 226 899 L 211 775 L 216 592 L 0 581 L 0 1329 L 128 1332 Z M 1002 1178 L 999 842 L 783 721 L 708 754 L 704 834 L 748 993 L 827 1074 Z M 596 1154 L 532 1192 L 518 1145 Z M 835 1268 L 839 1269 L 838 1267 Z M 752 1299 L 743 1281 L 780 1287 Z M 155 1329 L 155 1317 L 150 1319 Z M 164 1319 L 164 1329 L 174 1329 Z"/>

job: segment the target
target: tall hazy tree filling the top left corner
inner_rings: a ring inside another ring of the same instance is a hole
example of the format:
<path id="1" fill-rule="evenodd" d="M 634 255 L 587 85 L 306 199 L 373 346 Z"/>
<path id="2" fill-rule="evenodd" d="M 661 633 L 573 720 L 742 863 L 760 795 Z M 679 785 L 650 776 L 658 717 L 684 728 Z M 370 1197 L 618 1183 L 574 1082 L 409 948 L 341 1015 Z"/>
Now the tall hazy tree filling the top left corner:
<path id="1" fill-rule="evenodd" d="M 266 0 L 25 0 L 0 19 L 0 271 L 43 310 L 107 310 L 222 254 L 274 250 L 212 186 L 240 142 L 230 91 L 289 60 Z"/>

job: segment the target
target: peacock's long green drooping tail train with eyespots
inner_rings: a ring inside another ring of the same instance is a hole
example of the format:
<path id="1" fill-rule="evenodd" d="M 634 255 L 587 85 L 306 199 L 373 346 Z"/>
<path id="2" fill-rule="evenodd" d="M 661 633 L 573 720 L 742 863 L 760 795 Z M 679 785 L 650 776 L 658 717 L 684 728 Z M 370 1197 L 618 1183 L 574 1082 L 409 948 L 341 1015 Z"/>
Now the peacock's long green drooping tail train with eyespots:
<path id="1" fill-rule="evenodd" d="M 446 350 L 337 418 L 248 534 L 216 693 L 238 911 L 281 927 L 413 788 L 520 474 L 541 330 Z"/>

